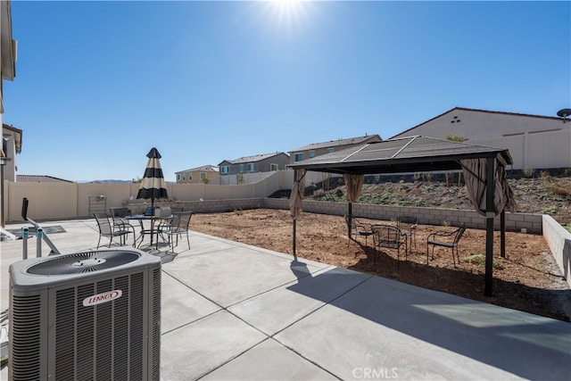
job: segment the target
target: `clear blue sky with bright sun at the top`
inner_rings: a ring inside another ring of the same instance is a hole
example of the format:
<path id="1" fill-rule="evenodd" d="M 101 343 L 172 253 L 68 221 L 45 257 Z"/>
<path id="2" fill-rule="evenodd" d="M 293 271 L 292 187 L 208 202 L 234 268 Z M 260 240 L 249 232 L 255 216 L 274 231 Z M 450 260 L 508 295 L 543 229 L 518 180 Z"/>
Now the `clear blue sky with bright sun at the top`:
<path id="1" fill-rule="evenodd" d="M 571 107 L 569 2 L 12 0 L 18 174 L 165 178 L 393 137 L 459 106 Z"/>

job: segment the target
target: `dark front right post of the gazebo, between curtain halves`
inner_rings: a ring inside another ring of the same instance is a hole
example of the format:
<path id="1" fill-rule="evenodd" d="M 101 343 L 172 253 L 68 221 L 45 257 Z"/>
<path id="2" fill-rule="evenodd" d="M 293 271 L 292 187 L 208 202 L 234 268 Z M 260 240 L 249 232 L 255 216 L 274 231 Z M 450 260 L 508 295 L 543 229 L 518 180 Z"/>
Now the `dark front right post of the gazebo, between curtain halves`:
<path id="1" fill-rule="evenodd" d="M 489 157 L 487 159 L 487 176 L 486 176 L 486 205 L 485 205 L 485 281 L 484 295 L 492 296 L 493 283 L 493 218 L 494 218 L 494 162 L 495 159 Z"/>

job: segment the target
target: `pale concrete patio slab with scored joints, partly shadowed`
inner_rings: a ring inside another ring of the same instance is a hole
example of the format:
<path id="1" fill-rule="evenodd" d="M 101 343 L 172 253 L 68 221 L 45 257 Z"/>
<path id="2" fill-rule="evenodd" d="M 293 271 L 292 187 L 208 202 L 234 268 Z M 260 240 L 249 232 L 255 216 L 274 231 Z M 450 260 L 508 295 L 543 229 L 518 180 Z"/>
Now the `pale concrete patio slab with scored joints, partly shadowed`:
<path id="1" fill-rule="evenodd" d="M 97 243 L 93 219 L 41 225 L 65 229 L 50 236 L 62 253 Z M 163 258 L 161 379 L 571 379 L 571 324 L 199 233 L 190 243 Z M 21 240 L 1 259 L 4 311 Z"/>

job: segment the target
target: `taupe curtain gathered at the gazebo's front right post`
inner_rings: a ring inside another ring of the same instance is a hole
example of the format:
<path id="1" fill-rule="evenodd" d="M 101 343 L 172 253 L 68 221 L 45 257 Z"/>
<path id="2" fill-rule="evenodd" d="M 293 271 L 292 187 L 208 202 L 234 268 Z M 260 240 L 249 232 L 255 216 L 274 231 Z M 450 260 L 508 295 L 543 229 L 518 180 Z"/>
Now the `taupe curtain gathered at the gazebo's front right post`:
<path id="1" fill-rule="evenodd" d="M 497 216 L 501 211 L 515 211 L 516 201 L 511 186 L 506 180 L 506 170 L 497 161 L 495 163 L 494 178 L 494 215 Z M 461 160 L 462 172 L 466 179 L 466 187 L 470 200 L 474 204 L 476 211 L 486 216 L 486 178 L 487 178 L 487 159 L 468 159 Z"/>

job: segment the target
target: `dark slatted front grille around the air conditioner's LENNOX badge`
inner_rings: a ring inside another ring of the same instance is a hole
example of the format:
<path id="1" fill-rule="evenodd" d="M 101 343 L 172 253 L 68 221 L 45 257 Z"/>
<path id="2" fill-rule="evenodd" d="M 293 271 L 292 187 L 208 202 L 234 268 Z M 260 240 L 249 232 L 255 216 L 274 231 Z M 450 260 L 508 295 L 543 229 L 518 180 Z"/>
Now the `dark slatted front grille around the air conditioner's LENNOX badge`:
<path id="1" fill-rule="evenodd" d="M 56 293 L 55 379 L 143 378 L 144 280 L 136 273 Z M 112 289 L 122 296 L 83 305 L 85 298 Z"/>

